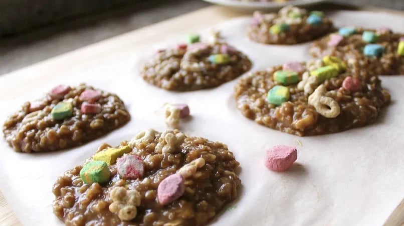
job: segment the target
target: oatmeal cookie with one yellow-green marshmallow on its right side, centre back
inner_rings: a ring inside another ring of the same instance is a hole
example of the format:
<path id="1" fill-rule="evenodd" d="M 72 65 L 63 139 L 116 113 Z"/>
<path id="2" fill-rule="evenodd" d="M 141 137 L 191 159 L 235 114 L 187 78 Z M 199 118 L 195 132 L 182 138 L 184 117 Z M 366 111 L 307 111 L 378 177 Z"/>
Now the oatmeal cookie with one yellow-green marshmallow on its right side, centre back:
<path id="1" fill-rule="evenodd" d="M 250 59 L 224 42 L 178 44 L 157 52 L 141 69 L 143 79 L 174 91 L 219 86 L 251 68 Z"/>

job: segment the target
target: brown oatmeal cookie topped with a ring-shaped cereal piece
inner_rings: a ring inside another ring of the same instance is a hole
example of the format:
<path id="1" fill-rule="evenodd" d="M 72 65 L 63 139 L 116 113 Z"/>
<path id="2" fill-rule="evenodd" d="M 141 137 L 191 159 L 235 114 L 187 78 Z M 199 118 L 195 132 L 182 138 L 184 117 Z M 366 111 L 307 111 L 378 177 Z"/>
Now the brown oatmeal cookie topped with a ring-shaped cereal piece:
<path id="1" fill-rule="evenodd" d="M 377 76 L 362 77 L 340 68 L 321 81 L 316 72 L 333 70 L 323 60 L 292 64 L 269 67 L 239 80 L 237 107 L 246 117 L 283 132 L 318 135 L 370 124 L 390 101 Z M 280 82 L 282 74 L 277 71 L 285 70 L 292 71 L 296 77 L 289 80 L 295 82 Z"/>

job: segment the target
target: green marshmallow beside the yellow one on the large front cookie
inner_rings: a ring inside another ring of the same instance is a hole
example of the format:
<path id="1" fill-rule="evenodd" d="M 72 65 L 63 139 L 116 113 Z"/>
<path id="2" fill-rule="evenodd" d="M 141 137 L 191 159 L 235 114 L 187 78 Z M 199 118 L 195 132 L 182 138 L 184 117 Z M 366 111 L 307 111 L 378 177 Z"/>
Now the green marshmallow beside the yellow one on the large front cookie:
<path id="1" fill-rule="evenodd" d="M 109 180 L 110 171 L 104 161 L 91 161 L 80 170 L 80 178 L 84 183 L 104 183 Z"/>

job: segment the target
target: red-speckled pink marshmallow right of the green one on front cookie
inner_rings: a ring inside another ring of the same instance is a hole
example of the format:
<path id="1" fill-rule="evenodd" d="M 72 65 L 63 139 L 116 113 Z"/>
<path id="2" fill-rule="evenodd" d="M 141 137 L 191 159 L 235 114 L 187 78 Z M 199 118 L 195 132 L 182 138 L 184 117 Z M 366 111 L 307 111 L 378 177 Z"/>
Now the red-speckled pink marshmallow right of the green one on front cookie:
<path id="1" fill-rule="evenodd" d="M 144 162 L 137 155 L 125 155 L 116 161 L 116 169 L 123 179 L 137 179 L 143 177 Z"/>

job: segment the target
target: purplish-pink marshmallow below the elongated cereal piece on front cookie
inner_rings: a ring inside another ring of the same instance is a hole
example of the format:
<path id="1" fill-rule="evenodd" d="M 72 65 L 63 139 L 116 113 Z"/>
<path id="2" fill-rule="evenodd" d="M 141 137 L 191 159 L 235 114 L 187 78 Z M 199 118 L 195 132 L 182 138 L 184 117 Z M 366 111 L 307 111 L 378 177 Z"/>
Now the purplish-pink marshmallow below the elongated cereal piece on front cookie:
<path id="1" fill-rule="evenodd" d="M 185 179 L 179 173 L 165 177 L 157 187 L 157 199 L 161 205 L 166 205 L 178 199 L 185 192 Z"/>

